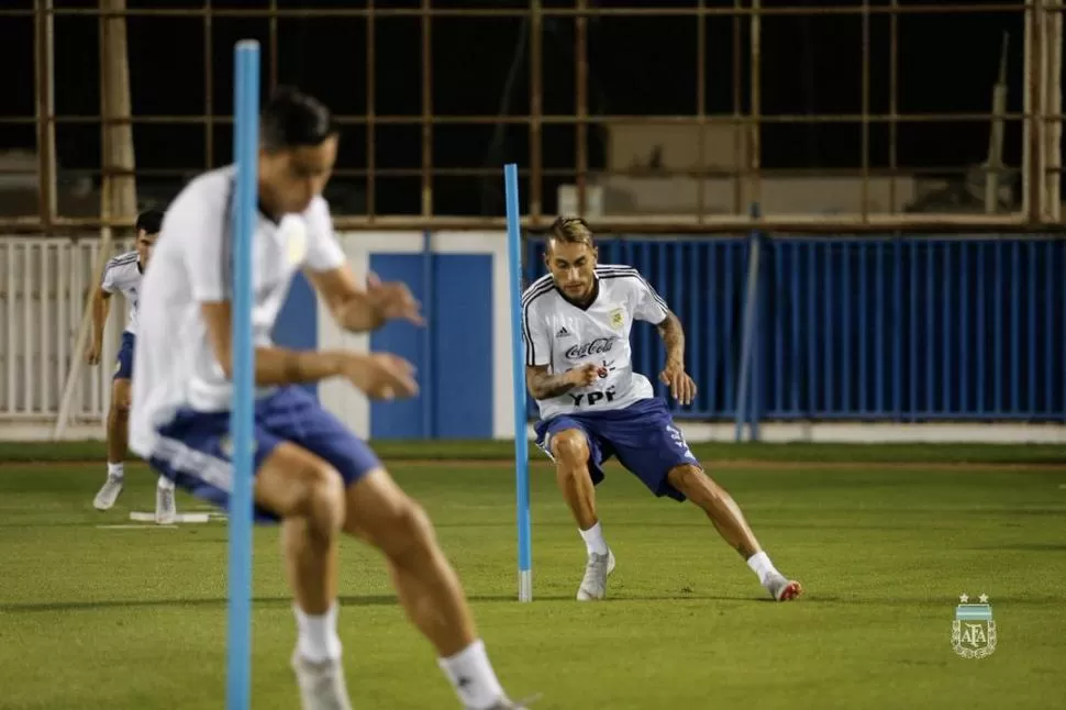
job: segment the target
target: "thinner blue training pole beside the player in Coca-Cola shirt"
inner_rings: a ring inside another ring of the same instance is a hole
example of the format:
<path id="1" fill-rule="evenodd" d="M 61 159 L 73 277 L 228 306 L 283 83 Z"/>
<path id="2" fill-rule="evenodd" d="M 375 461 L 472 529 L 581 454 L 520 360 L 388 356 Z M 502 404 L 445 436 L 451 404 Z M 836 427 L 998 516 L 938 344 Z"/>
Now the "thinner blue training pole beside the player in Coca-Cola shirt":
<path id="1" fill-rule="evenodd" d="M 503 168 L 507 192 L 507 260 L 511 292 L 511 363 L 514 378 L 514 474 L 519 523 L 519 601 L 533 601 L 533 542 L 530 525 L 530 441 L 525 434 L 525 347 L 522 342 L 522 228 L 519 168 Z"/>

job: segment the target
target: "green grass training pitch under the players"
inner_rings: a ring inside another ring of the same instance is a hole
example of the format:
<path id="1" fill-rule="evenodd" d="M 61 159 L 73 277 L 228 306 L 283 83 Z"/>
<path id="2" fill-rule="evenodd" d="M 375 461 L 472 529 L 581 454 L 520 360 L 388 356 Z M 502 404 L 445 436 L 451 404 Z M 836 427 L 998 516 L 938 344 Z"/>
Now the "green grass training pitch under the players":
<path id="1" fill-rule="evenodd" d="M 447 455 L 471 455 L 460 448 Z M 63 459 L 96 451 L 0 447 L 0 708 L 221 708 L 225 524 L 129 526 L 154 504 L 141 466 L 114 510 L 95 511 L 102 464 Z M 573 601 L 585 551 L 543 465 L 531 475 L 535 600 L 520 604 L 513 466 L 401 461 L 415 453 L 386 451 L 435 521 L 506 687 L 543 694 L 536 710 L 1066 707 L 1063 447 L 702 447 L 777 566 L 803 583 L 784 604 L 695 507 L 652 498 L 619 468 L 599 489 L 619 564 L 610 599 Z M 714 464 L 752 454 L 785 463 Z M 833 463 L 788 463 L 800 459 Z M 277 532 L 255 540 L 254 707 L 291 709 Z M 342 566 L 355 707 L 457 707 L 377 554 L 346 541 Z M 952 648 L 963 592 L 990 597 L 987 658 Z"/>

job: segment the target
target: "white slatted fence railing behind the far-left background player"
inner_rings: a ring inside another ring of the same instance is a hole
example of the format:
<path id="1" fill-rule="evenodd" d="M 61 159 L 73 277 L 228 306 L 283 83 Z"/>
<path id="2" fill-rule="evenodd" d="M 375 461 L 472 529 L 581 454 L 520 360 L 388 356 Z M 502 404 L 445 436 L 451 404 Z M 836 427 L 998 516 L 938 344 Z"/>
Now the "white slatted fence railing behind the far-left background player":
<path id="1" fill-rule="evenodd" d="M 130 240 L 116 240 L 112 251 L 130 248 Z M 0 237 L 0 422 L 55 421 L 73 359 L 84 357 L 74 350 L 99 256 L 99 238 Z M 125 318 L 116 295 L 100 365 L 81 366 L 71 424 L 102 420 Z"/>

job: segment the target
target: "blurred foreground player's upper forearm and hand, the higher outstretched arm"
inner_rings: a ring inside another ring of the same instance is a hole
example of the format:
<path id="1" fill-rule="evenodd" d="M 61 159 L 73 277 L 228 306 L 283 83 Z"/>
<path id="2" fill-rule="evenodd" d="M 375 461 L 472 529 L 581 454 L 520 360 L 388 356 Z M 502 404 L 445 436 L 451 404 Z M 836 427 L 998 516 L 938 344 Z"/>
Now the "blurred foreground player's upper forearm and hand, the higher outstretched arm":
<path id="1" fill-rule="evenodd" d="M 324 271 L 309 269 L 307 275 L 334 321 L 347 331 L 373 331 L 398 319 L 415 325 L 423 322 L 420 303 L 402 282 L 382 284 L 371 274 L 363 289 L 347 264 Z"/>

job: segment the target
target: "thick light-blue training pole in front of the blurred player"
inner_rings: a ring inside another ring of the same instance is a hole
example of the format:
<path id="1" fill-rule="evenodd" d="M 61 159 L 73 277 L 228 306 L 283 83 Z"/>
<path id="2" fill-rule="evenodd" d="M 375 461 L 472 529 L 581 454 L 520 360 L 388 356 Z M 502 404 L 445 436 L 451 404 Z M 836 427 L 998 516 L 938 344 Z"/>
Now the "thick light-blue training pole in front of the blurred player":
<path id="1" fill-rule="evenodd" d="M 226 710 L 247 710 L 252 688 L 252 428 L 255 351 L 252 348 L 252 237 L 259 152 L 259 43 L 234 47 L 233 153 L 233 491 L 230 497 L 230 606 Z"/>

